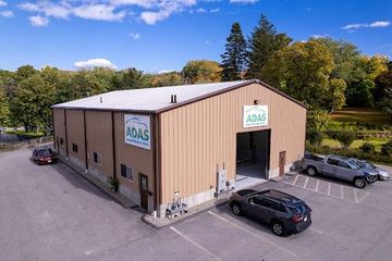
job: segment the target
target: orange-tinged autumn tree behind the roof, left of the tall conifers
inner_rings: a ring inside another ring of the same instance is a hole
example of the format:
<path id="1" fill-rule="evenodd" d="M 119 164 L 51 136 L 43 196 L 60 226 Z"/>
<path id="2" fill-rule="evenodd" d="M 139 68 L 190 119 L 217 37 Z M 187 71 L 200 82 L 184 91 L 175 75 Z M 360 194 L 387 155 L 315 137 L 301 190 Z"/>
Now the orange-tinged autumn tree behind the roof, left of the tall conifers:
<path id="1" fill-rule="evenodd" d="M 219 83 L 222 69 L 219 63 L 208 60 L 189 61 L 182 74 L 188 84 Z"/>

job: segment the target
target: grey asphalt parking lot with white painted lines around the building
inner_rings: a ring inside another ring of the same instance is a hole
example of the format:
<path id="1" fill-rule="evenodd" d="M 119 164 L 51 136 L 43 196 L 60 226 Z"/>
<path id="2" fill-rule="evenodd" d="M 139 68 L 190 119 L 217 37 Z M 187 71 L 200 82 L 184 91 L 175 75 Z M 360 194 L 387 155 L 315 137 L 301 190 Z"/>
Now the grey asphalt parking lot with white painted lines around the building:
<path id="1" fill-rule="evenodd" d="M 365 189 L 306 175 L 267 182 L 304 199 L 313 225 L 274 236 L 213 208 L 159 231 L 62 164 L 0 152 L 0 260 L 391 260 L 392 182 Z"/>

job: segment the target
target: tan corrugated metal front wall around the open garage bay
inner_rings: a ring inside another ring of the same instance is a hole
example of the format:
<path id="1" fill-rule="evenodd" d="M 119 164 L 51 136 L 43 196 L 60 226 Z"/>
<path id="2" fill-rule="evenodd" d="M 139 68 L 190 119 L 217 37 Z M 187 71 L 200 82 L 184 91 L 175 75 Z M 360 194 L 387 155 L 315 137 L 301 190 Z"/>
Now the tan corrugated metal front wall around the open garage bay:
<path id="1" fill-rule="evenodd" d="M 243 127 L 243 107 L 269 105 L 267 127 Z M 181 102 L 181 101 L 180 101 Z M 253 84 L 161 114 L 162 202 L 174 191 L 187 197 L 216 187 L 216 173 L 224 167 L 235 178 L 236 133 L 271 129 L 270 170 L 299 160 L 305 147 L 306 110 L 277 92 Z"/>

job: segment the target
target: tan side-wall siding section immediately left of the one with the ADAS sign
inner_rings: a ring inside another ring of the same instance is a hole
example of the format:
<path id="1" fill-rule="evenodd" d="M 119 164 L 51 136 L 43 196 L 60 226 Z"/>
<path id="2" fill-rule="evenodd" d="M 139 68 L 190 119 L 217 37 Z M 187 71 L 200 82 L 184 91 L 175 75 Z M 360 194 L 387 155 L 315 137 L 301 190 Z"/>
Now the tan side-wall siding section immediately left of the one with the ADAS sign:
<path id="1" fill-rule="evenodd" d="M 111 112 L 86 111 L 86 136 L 88 167 L 107 176 L 113 175 L 113 145 Z M 101 162 L 94 162 L 94 152 L 101 156 Z"/>

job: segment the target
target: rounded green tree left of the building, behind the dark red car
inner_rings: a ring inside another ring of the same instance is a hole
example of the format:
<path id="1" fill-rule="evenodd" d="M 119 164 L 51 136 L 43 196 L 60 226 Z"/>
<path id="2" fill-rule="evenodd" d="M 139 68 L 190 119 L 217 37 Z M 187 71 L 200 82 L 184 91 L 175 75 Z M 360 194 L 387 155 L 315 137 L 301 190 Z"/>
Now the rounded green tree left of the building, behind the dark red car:
<path id="1" fill-rule="evenodd" d="M 10 104 L 13 126 L 23 125 L 26 132 L 50 126 L 53 99 L 54 88 L 39 74 L 22 80 Z"/>

